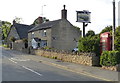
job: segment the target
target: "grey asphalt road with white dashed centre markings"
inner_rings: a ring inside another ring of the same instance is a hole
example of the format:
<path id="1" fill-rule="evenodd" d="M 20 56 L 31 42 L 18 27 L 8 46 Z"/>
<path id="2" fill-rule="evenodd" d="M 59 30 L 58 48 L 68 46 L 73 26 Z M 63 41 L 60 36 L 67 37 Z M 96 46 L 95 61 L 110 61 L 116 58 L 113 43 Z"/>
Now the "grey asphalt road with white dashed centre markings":
<path id="1" fill-rule="evenodd" d="M 33 55 L 2 49 L 2 81 L 102 81 L 24 56 Z"/>

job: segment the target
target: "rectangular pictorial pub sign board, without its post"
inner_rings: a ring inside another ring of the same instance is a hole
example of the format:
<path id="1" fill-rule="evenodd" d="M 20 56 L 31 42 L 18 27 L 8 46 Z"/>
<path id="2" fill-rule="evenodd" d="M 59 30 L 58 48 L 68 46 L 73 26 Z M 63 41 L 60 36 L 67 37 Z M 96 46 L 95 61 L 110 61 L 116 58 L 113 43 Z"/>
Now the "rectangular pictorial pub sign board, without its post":
<path id="1" fill-rule="evenodd" d="M 91 23 L 90 22 L 91 12 L 86 11 L 86 10 L 76 11 L 76 12 L 77 12 L 77 22 Z"/>

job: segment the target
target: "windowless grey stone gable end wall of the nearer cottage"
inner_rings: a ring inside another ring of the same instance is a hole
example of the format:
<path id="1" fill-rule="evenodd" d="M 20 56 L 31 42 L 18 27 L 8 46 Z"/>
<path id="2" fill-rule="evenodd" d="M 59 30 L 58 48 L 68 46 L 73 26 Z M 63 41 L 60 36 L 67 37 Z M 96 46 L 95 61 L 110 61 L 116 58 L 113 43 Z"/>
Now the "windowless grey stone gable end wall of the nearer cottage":
<path id="1" fill-rule="evenodd" d="M 68 20 L 63 19 L 51 28 L 52 48 L 72 51 L 78 46 L 81 36 L 80 29 L 75 28 Z"/>

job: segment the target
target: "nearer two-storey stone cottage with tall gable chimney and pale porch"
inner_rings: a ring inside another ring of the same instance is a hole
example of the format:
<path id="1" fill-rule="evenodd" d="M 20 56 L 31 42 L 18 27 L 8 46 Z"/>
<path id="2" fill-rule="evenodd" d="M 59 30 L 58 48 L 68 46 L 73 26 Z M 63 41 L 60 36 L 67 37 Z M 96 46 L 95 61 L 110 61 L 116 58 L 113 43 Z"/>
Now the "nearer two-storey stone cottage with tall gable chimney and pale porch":
<path id="1" fill-rule="evenodd" d="M 61 14 L 61 19 L 39 24 L 29 30 L 29 47 L 40 48 L 47 46 L 65 51 L 72 51 L 73 48 L 77 47 L 81 31 L 67 20 L 67 10 L 65 6 Z M 37 41 L 35 41 L 36 39 Z"/>

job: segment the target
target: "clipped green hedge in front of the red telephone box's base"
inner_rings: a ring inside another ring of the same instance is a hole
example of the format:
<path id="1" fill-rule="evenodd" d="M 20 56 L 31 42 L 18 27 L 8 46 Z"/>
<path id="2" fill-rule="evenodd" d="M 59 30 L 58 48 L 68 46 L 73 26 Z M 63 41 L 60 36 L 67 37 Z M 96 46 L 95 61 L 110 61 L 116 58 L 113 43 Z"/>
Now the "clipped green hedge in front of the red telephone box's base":
<path id="1" fill-rule="evenodd" d="M 120 63 L 119 51 L 104 51 L 100 56 L 100 65 L 115 66 Z"/>

